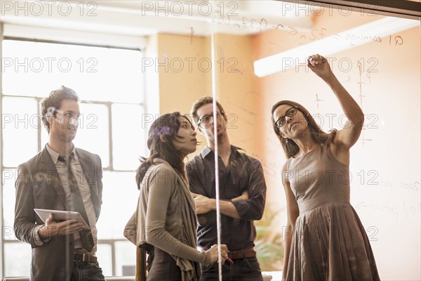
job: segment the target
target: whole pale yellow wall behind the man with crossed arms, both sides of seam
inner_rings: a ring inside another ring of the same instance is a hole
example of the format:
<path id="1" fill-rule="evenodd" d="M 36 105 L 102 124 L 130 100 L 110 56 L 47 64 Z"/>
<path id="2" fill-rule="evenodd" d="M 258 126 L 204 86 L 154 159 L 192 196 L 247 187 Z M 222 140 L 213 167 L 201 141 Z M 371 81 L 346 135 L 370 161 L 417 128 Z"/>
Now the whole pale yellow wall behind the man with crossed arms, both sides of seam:
<path id="1" fill-rule="evenodd" d="M 158 67 L 159 114 L 189 113 L 196 99 L 212 96 L 212 70 L 208 65 L 210 46 L 210 37 L 158 35 L 159 63 L 168 58 L 168 69 L 163 65 Z M 253 67 L 250 67 L 253 64 L 252 52 L 250 37 L 215 35 L 217 100 L 228 115 L 230 141 L 250 155 L 255 154 L 257 146 L 253 110 L 259 99 L 255 93 Z M 191 67 L 189 60 L 192 61 Z M 180 61 L 185 63 L 182 68 Z M 196 153 L 206 145 L 205 138 L 199 136 L 199 140 L 202 145 Z"/>

